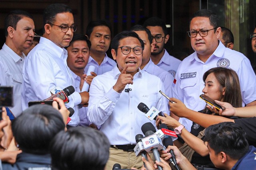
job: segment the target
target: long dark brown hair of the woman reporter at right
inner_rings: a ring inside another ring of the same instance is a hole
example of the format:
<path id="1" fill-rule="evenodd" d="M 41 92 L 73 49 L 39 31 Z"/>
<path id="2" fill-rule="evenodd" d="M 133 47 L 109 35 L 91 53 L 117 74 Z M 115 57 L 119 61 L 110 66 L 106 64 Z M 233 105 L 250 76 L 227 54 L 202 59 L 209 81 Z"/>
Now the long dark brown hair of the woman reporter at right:
<path id="1" fill-rule="evenodd" d="M 230 103 L 233 107 L 242 107 L 240 83 L 236 72 L 230 68 L 224 67 L 211 68 L 204 73 L 204 82 L 211 73 L 214 74 L 220 83 L 220 90 L 224 87 L 226 88 L 223 101 Z"/>

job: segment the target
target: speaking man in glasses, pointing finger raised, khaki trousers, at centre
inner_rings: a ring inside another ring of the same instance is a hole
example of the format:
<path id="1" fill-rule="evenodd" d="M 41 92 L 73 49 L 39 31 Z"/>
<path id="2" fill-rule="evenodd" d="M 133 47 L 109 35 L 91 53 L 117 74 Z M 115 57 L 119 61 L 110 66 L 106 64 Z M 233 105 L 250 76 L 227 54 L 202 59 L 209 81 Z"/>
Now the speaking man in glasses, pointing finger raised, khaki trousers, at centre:
<path id="1" fill-rule="evenodd" d="M 142 167 L 141 157 L 134 154 L 135 136 L 151 121 L 137 108 L 140 102 L 168 113 L 166 99 L 158 92 L 164 89 L 162 81 L 140 70 L 143 49 L 143 41 L 133 31 L 116 35 L 111 53 L 117 65 L 96 76 L 90 86 L 88 119 L 101 125 L 100 131 L 110 141 L 106 170 L 112 170 L 116 163 L 124 169 Z"/>

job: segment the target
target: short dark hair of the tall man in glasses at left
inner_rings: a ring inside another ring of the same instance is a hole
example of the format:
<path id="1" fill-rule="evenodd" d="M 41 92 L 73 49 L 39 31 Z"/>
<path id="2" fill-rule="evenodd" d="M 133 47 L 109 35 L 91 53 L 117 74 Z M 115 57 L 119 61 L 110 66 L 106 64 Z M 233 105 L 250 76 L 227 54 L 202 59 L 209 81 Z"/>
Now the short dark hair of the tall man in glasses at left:
<path id="1" fill-rule="evenodd" d="M 54 23 L 56 15 L 64 12 L 72 13 L 72 9 L 65 4 L 50 4 L 44 10 L 44 25 Z M 44 30 L 45 31 L 45 30 Z"/>

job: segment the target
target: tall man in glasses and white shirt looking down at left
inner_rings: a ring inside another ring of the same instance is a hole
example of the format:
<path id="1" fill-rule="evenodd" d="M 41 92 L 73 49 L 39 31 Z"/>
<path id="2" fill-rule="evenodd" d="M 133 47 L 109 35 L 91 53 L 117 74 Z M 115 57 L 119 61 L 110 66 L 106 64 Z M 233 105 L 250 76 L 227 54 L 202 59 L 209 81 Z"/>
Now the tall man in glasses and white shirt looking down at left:
<path id="1" fill-rule="evenodd" d="M 28 54 L 23 68 L 22 109 L 29 101 L 44 100 L 51 96 L 50 90 L 57 86 L 64 89 L 75 86 L 75 80 L 67 65 L 67 47 L 77 25 L 72 10 L 65 4 L 51 4 L 44 10 L 44 34 L 39 44 Z M 74 114 L 69 126 L 80 124 L 78 104 L 87 104 L 88 92 L 74 92 L 68 96 L 66 107 L 72 107 Z"/>

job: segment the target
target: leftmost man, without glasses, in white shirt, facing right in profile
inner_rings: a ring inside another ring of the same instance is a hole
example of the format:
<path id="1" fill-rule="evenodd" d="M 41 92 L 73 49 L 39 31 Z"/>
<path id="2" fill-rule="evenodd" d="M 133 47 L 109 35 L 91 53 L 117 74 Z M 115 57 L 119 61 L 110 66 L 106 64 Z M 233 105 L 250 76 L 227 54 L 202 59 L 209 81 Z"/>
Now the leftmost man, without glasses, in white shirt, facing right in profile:
<path id="1" fill-rule="evenodd" d="M 6 41 L 0 50 L 0 86 L 13 86 L 15 116 L 21 112 L 22 67 L 26 56 L 23 51 L 32 45 L 35 25 L 33 18 L 25 11 L 10 12 L 4 21 Z"/>

